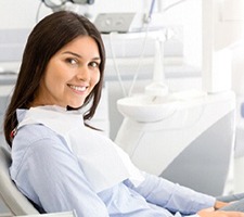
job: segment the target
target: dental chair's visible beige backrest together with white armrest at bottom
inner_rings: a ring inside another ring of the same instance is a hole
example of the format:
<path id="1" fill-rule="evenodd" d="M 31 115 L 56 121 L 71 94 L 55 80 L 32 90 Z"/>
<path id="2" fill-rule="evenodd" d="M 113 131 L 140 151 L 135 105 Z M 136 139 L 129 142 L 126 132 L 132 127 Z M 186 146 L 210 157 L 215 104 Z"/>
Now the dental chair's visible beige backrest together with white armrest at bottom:
<path id="1" fill-rule="evenodd" d="M 11 165 L 11 155 L 8 148 L 3 144 L 0 145 L 0 200 L 1 205 L 5 205 L 0 209 L 0 216 L 53 216 L 53 217 L 76 217 L 76 213 L 63 212 L 52 214 L 40 214 L 34 205 L 25 197 L 11 180 L 9 167 Z M 4 210 L 2 210 L 4 209 Z M 9 210 L 8 210 L 9 209 Z M 4 212 L 4 215 L 1 215 Z"/>

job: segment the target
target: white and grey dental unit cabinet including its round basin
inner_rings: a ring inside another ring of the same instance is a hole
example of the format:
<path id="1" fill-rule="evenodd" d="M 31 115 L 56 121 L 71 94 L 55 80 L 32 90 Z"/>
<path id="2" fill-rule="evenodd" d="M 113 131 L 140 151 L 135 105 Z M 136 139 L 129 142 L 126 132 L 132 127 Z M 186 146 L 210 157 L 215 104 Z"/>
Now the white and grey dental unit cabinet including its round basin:
<path id="1" fill-rule="evenodd" d="M 194 93 L 119 100 L 125 118 L 115 142 L 144 171 L 214 196 L 229 194 L 233 191 L 234 93 Z"/>

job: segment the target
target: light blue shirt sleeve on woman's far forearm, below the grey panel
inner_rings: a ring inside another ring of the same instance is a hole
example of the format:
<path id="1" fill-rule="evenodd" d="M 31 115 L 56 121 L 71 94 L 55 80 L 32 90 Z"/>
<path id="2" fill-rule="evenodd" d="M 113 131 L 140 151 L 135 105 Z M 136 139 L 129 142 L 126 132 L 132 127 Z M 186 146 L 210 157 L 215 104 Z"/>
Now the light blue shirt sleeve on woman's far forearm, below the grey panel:
<path id="1" fill-rule="evenodd" d="M 198 210 L 213 207 L 216 202 L 216 199 L 210 195 L 170 182 L 162 177 L 146 173 L 144 177 L 145 180 L 138 188 L 134 188 L 129 180 L 126 184 L 144 196 L 147 202 L 172 213 L 195 216 Z"/>

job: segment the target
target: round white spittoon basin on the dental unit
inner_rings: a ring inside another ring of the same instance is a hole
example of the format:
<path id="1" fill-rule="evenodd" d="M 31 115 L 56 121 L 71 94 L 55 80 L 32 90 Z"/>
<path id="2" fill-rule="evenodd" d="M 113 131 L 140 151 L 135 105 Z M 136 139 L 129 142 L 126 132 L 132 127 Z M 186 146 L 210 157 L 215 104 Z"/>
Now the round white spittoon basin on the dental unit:
<path id="1" fill-rule="evenodd" d="M 171 115 L 179 101 L 170 97 L 137 95 L 117 101 L 118 111 L 136 122 L 158 122 Z"/>

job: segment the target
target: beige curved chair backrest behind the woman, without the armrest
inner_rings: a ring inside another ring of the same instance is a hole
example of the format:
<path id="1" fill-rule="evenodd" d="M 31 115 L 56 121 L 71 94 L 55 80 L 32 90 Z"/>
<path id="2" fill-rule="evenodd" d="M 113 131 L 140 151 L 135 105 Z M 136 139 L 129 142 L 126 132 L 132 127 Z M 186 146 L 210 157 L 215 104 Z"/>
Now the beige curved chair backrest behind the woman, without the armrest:
<path id="1" fill-rule="evenodd" d="M 14 216 L 35 215 L 39 212 L 18 191 L 11 180 L 9 167 L 11 165 L 11 154 L 8 148 L 0 145 L 0 196 Z"/>

